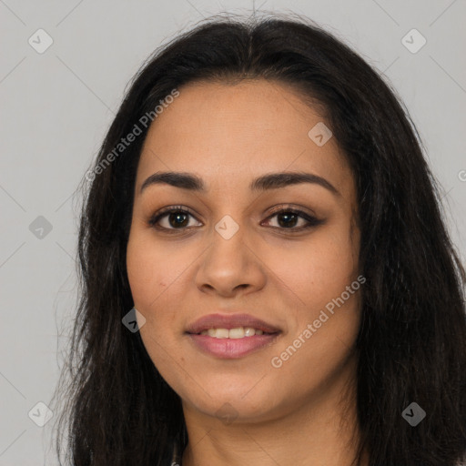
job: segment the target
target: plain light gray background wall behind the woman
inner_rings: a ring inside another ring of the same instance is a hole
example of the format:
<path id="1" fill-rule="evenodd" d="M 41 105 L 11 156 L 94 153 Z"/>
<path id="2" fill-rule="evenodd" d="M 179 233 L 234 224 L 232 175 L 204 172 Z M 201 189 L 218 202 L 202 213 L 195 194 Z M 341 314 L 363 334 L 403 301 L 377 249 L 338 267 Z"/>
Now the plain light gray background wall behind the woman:
<path id="1" fill-rule="evenodd" d="M 0 465 L 56 464 L 56 417 L 41 428 L 28 412 L 51 400 L 76 303 L 72 195 L 128 80 L 203 17 L 253 8 L 307 15 L 385 73 L 420 130 L 464 259 L 465 0 L 0 0 Z M 54 41 L 43 54 L 28 44 L 39 28 Z M 412 28 L 427 39 L 415 54 L 401 42 Z M 38 216 L 52 225 L 43 238 L 29 229 Z"/>

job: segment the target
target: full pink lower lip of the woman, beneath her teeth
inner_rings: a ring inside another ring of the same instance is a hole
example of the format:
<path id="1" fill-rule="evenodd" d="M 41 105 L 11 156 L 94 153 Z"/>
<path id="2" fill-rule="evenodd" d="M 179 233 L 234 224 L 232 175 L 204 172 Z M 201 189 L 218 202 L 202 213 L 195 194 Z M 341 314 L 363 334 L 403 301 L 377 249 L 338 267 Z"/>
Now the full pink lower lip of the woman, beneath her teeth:
<path id="1" fill-rule="evenodd" d="M 212 356 L 226 360 L 242 358 L 260 348 L 264 348 L 277 339 L 278 333 L 269 335 L 254 335 L 242 339 L 216 339 L 208 335 L 188 334 L 198 348 L 203 349 Z"/>

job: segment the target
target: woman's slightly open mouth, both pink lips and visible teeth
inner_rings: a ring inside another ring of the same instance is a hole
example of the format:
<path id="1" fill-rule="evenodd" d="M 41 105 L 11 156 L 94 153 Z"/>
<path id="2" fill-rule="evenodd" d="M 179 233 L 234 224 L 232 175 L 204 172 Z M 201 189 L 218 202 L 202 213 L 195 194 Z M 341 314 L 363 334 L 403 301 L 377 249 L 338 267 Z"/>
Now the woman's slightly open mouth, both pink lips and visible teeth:
<path id="1" fill-rule="evenodd" d="M 187 329 L 194 346 L 219 359 L 238 359 L 268 347 L 281 330 L 247 314 L 211 314 Z"/>

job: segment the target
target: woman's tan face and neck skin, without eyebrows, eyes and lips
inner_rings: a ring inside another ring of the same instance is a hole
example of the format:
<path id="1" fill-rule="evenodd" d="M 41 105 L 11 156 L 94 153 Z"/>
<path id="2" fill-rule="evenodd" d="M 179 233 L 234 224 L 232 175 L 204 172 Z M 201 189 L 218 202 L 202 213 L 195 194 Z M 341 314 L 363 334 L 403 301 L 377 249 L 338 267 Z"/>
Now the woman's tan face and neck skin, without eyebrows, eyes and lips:
<path id="1" fill-rule="evenodd" d="M 346 159 L 335 137 L 322 147 L 309 138 L 324 120 L 287 85 L 203 82 L 179 92 L 149 128 L 137 167 L 127 272 L 147 319 L 140 329 L 147 352 L 182 400 L 183 466 L 349 466 L 358 441 L 360 291 L 281 367 L 270 362 L 360 275 Z M 141 193 L 159 171 L 195 174 L 206 192 L 153 184 Z M 323 177 L 338 193 L 316 183 L 249 190 L 253 178 L 284 171 Z M 160 229 L 149 224 L 160 209 L 177 206 L 192 213 L 182 227 L 169 214 Z M 285 224 L 273 215 L 279 206 L 322 222 L 292 233 L 308 222 Z M 239 228 L 228 240 L 215 229 L 226 215 Z M 278 327 L 279 337 L 238 359 L 214 357 L 186 329 L 215 312 L 252 314 Z M 225 403 L 234 420 L 220 419 Z"/>

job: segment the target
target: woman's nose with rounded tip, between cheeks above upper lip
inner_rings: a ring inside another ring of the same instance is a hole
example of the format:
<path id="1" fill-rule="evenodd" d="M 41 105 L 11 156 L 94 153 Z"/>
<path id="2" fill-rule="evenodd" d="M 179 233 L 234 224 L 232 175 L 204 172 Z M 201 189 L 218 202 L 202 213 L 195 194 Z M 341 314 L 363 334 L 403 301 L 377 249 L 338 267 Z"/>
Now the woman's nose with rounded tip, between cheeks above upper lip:
<path id="1" fill-rule="evenodd" d="M 231 236 L 221 229 L 214 231 L 196 275 L 196 285 L 202 292 L 231 298 L 265 286 L 266 265 L 253 245 L 247 244 L 244 230 L 238 228 Z"/>

